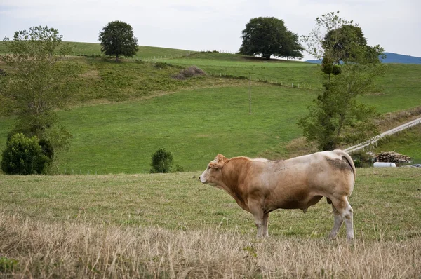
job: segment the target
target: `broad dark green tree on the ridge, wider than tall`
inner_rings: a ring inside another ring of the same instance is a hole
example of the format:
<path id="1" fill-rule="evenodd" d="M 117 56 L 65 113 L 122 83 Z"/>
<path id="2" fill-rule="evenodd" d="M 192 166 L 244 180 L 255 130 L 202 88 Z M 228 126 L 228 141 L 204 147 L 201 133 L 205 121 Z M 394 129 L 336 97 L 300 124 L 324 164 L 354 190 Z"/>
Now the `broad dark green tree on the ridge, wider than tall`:
<path id="1" fill-rule="evenodd" d="M 298 36 L 288 31 L 283 20 L 277 18 L 252 18 L 242 32 L 243 43 L 239 53 L 243 55 L 262 55 L 267 60 L 276 57 L 302 58 L 302 46 Z"/>

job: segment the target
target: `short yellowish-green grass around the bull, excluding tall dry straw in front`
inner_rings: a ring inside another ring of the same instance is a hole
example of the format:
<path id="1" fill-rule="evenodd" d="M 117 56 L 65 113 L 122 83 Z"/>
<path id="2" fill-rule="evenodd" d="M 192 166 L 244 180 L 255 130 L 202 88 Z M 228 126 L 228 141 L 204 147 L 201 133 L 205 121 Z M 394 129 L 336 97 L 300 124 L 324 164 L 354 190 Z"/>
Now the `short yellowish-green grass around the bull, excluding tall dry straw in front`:
<path id="1" fill-rule="evenodd" d="M 220 229 L 255 235 L 253 217 L 221 189 L 199 182 L 201 172 L 144 175 L 4 176 L 0 207 L 43 222 Z M 357 170 L 350 203 L 356 238 L 403 240 L 419 235 L 421 172 L 415 168 Z M 323 198 L 306 214 L 272 212 L 273 236 L 326 238 L 333 226 Z M 345 238 L 345 228 L 339 238 Z"/>

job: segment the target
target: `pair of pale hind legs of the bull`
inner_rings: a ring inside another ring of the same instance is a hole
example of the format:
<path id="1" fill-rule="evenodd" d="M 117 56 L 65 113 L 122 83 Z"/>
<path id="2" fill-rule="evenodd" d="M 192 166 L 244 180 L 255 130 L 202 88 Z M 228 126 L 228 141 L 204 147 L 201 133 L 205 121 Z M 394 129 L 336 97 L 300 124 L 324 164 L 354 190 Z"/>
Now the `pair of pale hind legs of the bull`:
<path id="1" fill-rule="evenodd" d="M 345 221 L 345 227 L 347 229 L 347 240 L 353 240 L 354 224 L 353 210 L 351 205 L 349 205 L 346 197 L 343 197 L 341 199 L 331 198 L 331 200 L 334 208 L 333 214 L 335 215 L 335 225 L 333 226 L 333 229 L 330 232 L 329 236 L 331 236 L 332 234 L 336 235 L 336 233 L 338 233 L 340 225 L 342 224 L 342 221 Z M 338 212 L 338 215 L 335 214 L 335 210 Z"/>

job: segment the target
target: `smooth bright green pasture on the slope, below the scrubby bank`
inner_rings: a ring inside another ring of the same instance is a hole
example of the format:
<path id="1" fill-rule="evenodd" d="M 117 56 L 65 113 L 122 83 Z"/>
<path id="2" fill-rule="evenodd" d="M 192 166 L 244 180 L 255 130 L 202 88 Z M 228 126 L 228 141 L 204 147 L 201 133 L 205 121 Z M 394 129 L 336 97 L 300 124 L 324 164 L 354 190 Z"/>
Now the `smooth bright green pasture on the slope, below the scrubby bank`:
<path id="1" fill-rule="evenodd" d="M 248 87 L 238 86 L 60 111 L 60 123 L 74 135 L 60 172 L 148 172 L 159 147 L 186 171 L 205 168 L 217 154 L 258 156 L 300 136 L 295 123 L 312 97 L 307 90 L 255 86 L 250 115 Z"/>

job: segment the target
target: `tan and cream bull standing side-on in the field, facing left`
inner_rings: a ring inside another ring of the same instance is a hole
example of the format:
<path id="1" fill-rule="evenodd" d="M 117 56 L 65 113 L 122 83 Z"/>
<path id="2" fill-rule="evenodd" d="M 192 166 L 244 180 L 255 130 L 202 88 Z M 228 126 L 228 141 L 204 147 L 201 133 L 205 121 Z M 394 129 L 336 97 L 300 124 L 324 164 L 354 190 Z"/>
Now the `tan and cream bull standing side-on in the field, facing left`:
<path id="1" fill-rule="evenodd" d="M 306 212 L 325 196 L 335 217 L 329 237 L 335 238 L 345 221 L 347 239 L 354 238 L 353 210 L 348 197 L 354 189 L 355 166 L 345 151 L 323 151 L 285 161 L 229 159 L 219 154 L 199 179 L 224 189 L 243 210 L 250 212 L 258 227 L 258 237 L 268 236 L 270 212 L 279 208 Z"/>

